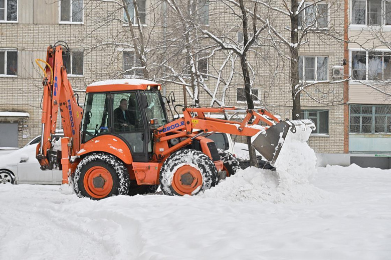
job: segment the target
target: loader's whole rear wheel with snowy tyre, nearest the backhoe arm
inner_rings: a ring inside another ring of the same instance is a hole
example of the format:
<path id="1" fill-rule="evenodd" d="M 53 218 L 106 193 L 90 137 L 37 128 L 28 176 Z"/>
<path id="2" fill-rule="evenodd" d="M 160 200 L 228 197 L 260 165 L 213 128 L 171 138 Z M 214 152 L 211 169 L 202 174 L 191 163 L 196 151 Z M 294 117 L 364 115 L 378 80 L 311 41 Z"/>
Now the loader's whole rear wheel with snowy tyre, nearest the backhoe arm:
<path id="1" fill-rule="evenodd" d="M 129 190 L 129 173 L 117 157 L 98 152 L 87 155 L 79 162 L 73 182 L 79 197 L 98 200 L 126 195 Z"/>

